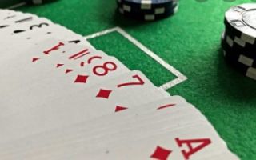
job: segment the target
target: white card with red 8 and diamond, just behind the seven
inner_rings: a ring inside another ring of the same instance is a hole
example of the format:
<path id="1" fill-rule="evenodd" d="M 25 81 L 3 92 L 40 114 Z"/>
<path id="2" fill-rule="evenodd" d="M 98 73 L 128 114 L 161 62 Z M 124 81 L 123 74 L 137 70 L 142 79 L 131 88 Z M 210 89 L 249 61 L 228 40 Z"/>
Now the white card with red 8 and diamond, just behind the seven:
<path id="1" fill-rule="evenodd" d="M 62 51 L 60 53 L 62 54 Z M 76 94 L 78 91 L 78 94 L 81 94 L 82 90 L 130 72 L 116 58 L 108 57 L 101 51 L 86 52 L 89 54 L 82 57 L 82 67 L 80 59 L 78 62 L 69 63 L 68 57 L 78 55 L 76 52 L 70 53 L 70 56 L 62 58 L 62 55 L 55 52 L 52 53 L 51 59 L 39 59 L 37 64 L 29 62 L 28 59 L 23 62 L 20 58 L 22 63 L 17 65 L 18 62 L 15 61 L 16 67 L 13 67 L 14 70 L 11 72 L 10 63 L 7 64 L 8 73 L 4 71 L 5 67 L 2 67 L 1 117 L 69 94 Z M 99 57 L 101 58 L 98 59 Z M 106 70 L 103 70 L 104 66 Z M 15 101 L 10 101 L 11 97 L 15 97 Z"/>

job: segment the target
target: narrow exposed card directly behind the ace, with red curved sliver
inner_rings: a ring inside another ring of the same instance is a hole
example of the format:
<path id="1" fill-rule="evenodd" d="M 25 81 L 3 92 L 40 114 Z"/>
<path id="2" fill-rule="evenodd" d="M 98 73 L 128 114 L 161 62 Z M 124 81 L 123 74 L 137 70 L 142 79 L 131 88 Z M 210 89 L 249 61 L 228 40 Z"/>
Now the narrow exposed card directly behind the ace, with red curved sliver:
<path id="1" fill-rule="evenodd" d="M 168 101 L 168 104 L 172 103 L 172 98 Z M 136 111 L 134 110 L 124 110 L 122 112 L 119 112 L 118 114 L 113 114 L 111 117 L 105 116 L 105 118 L 97 119 L 96 121 L 92 122 L 82 122 L 78 125 L 72 126 L 69 130 L 55 130 L 54 134 L 51 134 L 51 132 L 46 132 L 44 134 L 40 134 L 38 136 L 38 140 L 36 140 L 35 137 L 29 138 L 28 141 L 36 142 L 33 146 L 33 148 L 39 148 L 39 146 L 46 145 L 46 148 L 50 149 L 50 146 L 58 146 L 58 143 L 61 142 L 63 146 L 65 146 L 63 143 L 64 140 L 70 141 L 67 145 L 70 146 L 70 143 L 78 142 L 76 145 L 82 145 L 82 148 L 89 146 L 92 139 L 98 139 L 101 138 L 102 140 L 98 142 L 104 142 L 105 140 L 109 140 L 110 143 L 114 142 L 121 142 L 122 139 L 126 139 L 126 136 L 129 136 L 130 134 L 136 134 L 137 138 L 145 138 L 149 135 L 154 135 L 156 133 L 162 133 L 161 130 L 154 130 L 154 127 L 158 127 L 161 123 L 162 125 L 165 125 L 167 119 L 168 121 L 171 121 L 170 125 L 168 127 L 175 128 L 180 127 L 185 124 L 190 124 L 192 122 L 196 121 L 205 121 L 201 114 L 198 112 L 198 110 L 194 110 L 193 107 L 187 107 L 187 106 L 170 106 L 170 107 L 162 107 L 162 104 L 166 103 L 160 103 L 160 106 L 150 106 L 150 104 L 147 104 L 142 107 L 137 107 Z M 158 105 L 159 105 L 158 104 Z M 188 111 L 186 111 L 188 110 Z M 168 116 L 169 114 L 173 114 L 174 116 Z M 186 118 L 187 116 L 190 116 L 191 119 Z M 135 127 L 134 127 L 135 125 Z M 167 126 L 166 126 L 167 127 Z M 134 133 L 134 129 L 138 130 L 137 133 Z M 147 131 L 146 131 L 147 130 Z M 151 130 L 148 132 L 148 130 Z M 147 134 L 140 134 L 142 132 Z M 58 133 L 58 134 L 56 134 Z M 119 135 L 120 134 L 120 135 Z M 128 135 L 126 135 L 128 134 Z M 64 137 L 63 137 L 64 136 Z M 114 139 L 111 138 L 114 136 Z M 134 137 L 135 138 L 135 137 Z M 117 141 L 116 141 L 117 139 Z M 79 141 L 78 141 L 79 140 Z M 80 142 L 81 141 L 81 142 Z M 133 141 L 131 139 L 131 141 Z M 25 144 L 32 145 L 32 142 L 25 142 Z M 19 146 L 22 149 L 25 149 L 27 146 L 20 146 L 22 142 L 19 142 L 18 144 L 15 144 L 14 147 Z M 96 144 L 95 147 L 101 145 L 100 143 Z M 10 146 L 10 145 L 9 145 Z M 74 146 L 74 145 L 72 145 Z M 18 148 L 19 148 L 18 147 Z M 60 151 L 60 147 L 58 147 L 58 151 Z M 5 148 L 8 150 L 9 147 L 5 146 Z M 90 147 L 91 148 L 91 147 Z M 96 147 L 98 148 L 98 147 Z M 50 150 L 53 150 L 54 148 L 51 148 Z M 31 149 L 32 150 L 32 149 Z M 63 150 L 66 150 L 64 148 Z M 88 149 L 90 150 L 90 149 Z M 76 150 L 70 150 L 69 153 L 76 153 L 78 151 L 78 148 Z M 18 152 L 16 152 L 18 153 Z M 25 152 L 24 152 L 25 153 Z M 49 153 L 49 152 L 47 152 Z M 54 153 L 56 154 L 56 153 Z"/>

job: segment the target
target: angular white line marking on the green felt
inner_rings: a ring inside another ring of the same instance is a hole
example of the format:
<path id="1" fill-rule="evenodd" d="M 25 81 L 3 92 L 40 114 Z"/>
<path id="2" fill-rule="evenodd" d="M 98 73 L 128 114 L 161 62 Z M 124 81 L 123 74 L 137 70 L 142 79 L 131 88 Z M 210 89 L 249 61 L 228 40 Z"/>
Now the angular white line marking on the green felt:
<path id="1" fill-rule="evenodd" d="M 159 88 L 161 88 L 162 90 L 168 90 L 171 87 L 176 86 L 179 83 L 186 81 L 187 78 L 184 74 L 182 74 L 180 71 L 176 70 L 173 66 L 170 66 L 170 64 L 168 64 L 167 62 L 162 60 L 162 58 L 158 57 L 157 54 L 154 54 L 154 52 L 149 50 L 146 46 L 142 45 L 141 42 L 138 42 L 138 40 L 136 40 L 135 38 L 130 36 L 130 34 L 128 34 L 125 30 L 122 30 L 118 26 L 114 27 L 114 28 L 111 28 L 111 29 L 108 29 L 108 30 L 103 30 L 103 31 L 97 32 L 95 34 L 90 34 L 88 36 L 85 36 L 84 38 L 86 38 L 86 39 L 97 38 L 97 37 L 100 37 L 102 35 L 110 34 L 111 32 L 115 32 L 115 31 L 118 32 L 119 34 L 122 34 L 123 37 L 128 39 L 130 42 L 134 43 L 134 45 L 138 46 L 138 48 L 140 50 L 145 52 L 147 55 L 149 55 L 151 58 L 153 58 L 156 62 L 158 62 L 163 67 L 165 67 L 166 70 L 169 70 L 170 73 L 174 74 L 177 77 L 174 80 L 171 80 L 170 82 L 167 82 L 166 84 L 163 84 Z"/>

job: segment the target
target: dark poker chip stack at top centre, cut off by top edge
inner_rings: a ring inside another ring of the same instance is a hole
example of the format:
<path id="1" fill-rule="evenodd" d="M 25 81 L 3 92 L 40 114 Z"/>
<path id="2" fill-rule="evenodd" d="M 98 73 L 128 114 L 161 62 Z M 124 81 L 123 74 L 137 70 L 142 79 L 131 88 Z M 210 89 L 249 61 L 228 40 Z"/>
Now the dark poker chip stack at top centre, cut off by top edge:
<path id="1" fill-rule="evenodd" d="M 178 0 L 117 0 L 118 11 L 126 17 L 153 21 L 178 11 Z"/>

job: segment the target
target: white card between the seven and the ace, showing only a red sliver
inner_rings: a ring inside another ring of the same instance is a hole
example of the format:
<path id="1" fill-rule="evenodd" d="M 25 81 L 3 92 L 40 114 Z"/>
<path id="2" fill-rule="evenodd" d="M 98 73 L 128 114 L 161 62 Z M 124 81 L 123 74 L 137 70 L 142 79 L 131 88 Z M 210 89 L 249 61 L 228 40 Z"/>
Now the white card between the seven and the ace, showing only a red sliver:
<path id="1" fill-rule="evenodd" d="M 162 105 L 162 103 L 159 104 Z M 114 147 L 119 143 L 127 142 L 127 138 L 131 138 L 128 140 L 129 142 L 136 142 L 155 134 L 162 134 L 166 132 L 165 130 L 190 126 L 193 122 L 198 121 L 206 122 L 202 114 L 195 110 L 193 106 L 159 107 L 145 105 L 136 108 L 136 110 L 122 110 L 118 114 L 112 114 L 111 117 L 104 116 L 90 122 L 79 123 L 70 128 L 38 134 L 18 143 L 8 142 L 8 145 L 3 148 L 9 151 L 16 150 L 14 153 L 18 156 L 22 154 L 28 156 L 30 153 L 38 152 L 37 150 L 51 158 L 54 154 L 68 153 L 66 155 L 71 155 L 81 149 L 85 149 L 85 152 L 90 154 L 93 150 L 102 149 L 102 146 L 103 148 L 106 145 Z M 169 125 L 166 126 L 166 123 Z M 72 146 L 72 149 L 68 151 L 66 149 L 69 146 Z M 44 147 L 46 147 L 46 150 L 44 150 Z M 18 151 L 17 149 L 21 150 Z M 0 151 L 0 153 L 3 152 L 4 150 Z M 11 155 L 14 155 L 14 153 Z"/>

